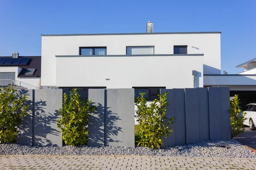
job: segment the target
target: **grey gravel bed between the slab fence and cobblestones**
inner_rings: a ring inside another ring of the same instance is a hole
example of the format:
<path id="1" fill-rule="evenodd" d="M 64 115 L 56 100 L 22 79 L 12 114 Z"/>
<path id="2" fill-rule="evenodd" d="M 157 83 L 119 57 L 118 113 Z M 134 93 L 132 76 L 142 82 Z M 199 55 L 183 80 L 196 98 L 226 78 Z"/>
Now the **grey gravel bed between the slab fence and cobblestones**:
<path id="1" fill-rule="evenodd" d="M 225 145 L 230 148 L 217 147 Z M 150 149 L 146 147 L 39 147 L 20 144 L 0 144 L 0 155 L 140 155 L 175 157 L 219 157 L 219 158 L 256 158 L 256 153 L 235 140 L 207 141 L 194 144 Z"/>

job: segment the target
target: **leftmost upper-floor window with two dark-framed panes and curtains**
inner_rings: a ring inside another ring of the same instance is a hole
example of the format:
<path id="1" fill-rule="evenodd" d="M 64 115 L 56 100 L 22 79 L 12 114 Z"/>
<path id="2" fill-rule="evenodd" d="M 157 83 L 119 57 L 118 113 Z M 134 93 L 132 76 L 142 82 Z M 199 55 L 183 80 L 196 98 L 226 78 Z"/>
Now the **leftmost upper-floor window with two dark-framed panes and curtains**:
<path id="1" fill-rule="evenodd" d="M 91 55 L 106 55 L 107 47 L 79 47 L 79 55 L 91 56 Z"/>

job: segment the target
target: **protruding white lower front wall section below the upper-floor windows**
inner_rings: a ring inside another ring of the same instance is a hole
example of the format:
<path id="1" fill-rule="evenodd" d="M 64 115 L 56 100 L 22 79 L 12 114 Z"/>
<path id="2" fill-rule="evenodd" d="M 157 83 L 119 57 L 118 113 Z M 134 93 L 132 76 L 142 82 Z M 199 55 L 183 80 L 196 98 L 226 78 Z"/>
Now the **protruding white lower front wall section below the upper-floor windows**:
<path id="1" fill-rule="evenodd" d="M 203 56 L 56 57 L 56 86 L 193 88 L 192 70 L 203 87 Z"/>

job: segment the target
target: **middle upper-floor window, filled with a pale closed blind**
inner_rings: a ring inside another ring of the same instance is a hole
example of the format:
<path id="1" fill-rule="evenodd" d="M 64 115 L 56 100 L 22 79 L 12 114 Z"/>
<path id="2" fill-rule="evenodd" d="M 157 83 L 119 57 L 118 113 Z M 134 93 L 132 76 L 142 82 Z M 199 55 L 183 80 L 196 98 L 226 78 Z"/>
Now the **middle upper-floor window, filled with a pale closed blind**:
<path id="1" fill-rule="evenodd" d="M 154 46 L 127 46 L 126 55 L 154 54 Z"/>

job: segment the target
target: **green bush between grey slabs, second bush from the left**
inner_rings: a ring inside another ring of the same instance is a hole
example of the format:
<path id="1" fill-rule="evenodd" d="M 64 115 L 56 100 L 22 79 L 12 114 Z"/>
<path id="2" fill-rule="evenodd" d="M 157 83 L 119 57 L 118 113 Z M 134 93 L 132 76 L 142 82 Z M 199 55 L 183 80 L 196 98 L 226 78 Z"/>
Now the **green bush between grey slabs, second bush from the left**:
<path id="1" fill-rule="evenodd" d="M 96 106 L 91 105 L 91 101 L 83 103 L 79 97 L 76 89 L 73 89 L 70 101 L 67 101 L 68 96 L 64 94 L 62 109 L 58 111 L 62 116 L 58 120 L 58 128 L 61 129 L 65 144 L 72 146 L 87 144 L 89 114 L 96 109 Z"/>

